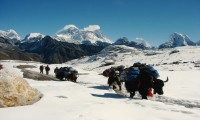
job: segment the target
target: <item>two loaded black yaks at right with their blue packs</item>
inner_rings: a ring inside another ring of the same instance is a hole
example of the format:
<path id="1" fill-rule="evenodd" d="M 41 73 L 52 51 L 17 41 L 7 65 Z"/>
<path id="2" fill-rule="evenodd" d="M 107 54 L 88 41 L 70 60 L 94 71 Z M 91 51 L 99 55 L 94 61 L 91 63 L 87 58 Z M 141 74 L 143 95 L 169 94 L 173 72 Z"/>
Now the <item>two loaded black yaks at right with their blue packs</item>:
<path id="1" fill-rule="evenodd" d="M 111 67 L 103 71 L 103 76 L 108 78 L 109 87 L 113 87 L 117 93 L 121 90 L 121 84 L 125 82 L 125 88 L 130 93 L 130 98 L 135 96 L 135 92 L 139 91 L 142 99 L 147 99 L 147 96 L 154 94 L 162 95 L 164 83 L 166 81 L 158 79 L 159 73 L 151 65 L 145 63 L 134 63 L 133 66 L 125 68 L 123 65 Z M 116 86 L 119 86 L 118 90 Z M 123 94 L 123 93 L 121 93 Z"/>

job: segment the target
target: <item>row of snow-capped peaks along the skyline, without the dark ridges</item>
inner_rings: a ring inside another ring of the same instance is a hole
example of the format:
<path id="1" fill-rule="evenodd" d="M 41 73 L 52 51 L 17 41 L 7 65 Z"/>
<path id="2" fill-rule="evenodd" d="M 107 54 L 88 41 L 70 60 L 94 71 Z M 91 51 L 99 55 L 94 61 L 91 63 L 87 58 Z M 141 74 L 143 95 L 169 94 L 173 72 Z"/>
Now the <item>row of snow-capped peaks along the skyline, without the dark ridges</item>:
<path id="1" fill-rule="evenodd" d="M 41 33 L 29 33 L 24 39 L 17 34 L 13 29 L 8 31 L 0 30 L 0 37 L 9 38 L 13 40 L 16 44 L 24 42 L 36 42 L 42 40 L 45 35 Z M 110 44 L 113 45 L 126 45 L 130 47 L 140 48 L 140 49 L 152 49 L 155 48 L 150 45 L 147 41 L 142 38 L 136 38 L 136 41 L 129 41 L 128 38 L 123 37 L 116 40 L 114 43 L 107 37 L 105 37 L 100 32 L 100 26 L 98 25 L 89 25 L 83 29 L 79 29 L 75 25 L 66 25 L 64 28 L 59 30 L 55 35 L 51 36 L 53 39 L 62 42 L 74 43 L 74 44 L 87 44 L 87 45 L 98 45 L 98 46 L 107 46 Z M 195 46 L 200 45 L 200 40 L 196 43 L 190 40 L 187 35 L 182 33 L 172 33 L 169 36 L 168 41 L 159 45 L 159 49 L 162 48 L 174 48 L 179 46 Z"/>

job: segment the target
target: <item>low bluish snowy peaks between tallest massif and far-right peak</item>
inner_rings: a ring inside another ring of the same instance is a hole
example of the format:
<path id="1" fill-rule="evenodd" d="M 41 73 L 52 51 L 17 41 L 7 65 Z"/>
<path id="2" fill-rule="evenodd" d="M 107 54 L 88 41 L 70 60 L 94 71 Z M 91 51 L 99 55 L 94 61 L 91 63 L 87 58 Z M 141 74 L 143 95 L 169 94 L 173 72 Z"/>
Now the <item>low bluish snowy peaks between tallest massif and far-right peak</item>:
<path id="1" fill-rule="evenodd" d="M 127 37 L 119 38 L 114 45 L 126 45 L 129 47 L 139 48 L 139 49 L 151 49 L 152 46 L 145 41 L 143 38 L 136 38 L 136 41 L 129 41 Z"/>

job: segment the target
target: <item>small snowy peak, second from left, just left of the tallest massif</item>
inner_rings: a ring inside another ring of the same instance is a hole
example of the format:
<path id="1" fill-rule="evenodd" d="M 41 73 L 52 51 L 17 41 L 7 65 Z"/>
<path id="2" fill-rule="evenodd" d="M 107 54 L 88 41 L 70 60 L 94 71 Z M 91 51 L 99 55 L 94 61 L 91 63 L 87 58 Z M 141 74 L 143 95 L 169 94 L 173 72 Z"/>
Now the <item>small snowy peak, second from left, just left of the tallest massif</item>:
<path id="1" fill-rule="evenodd" d="M 42 40 L 44 38 L 44 35 L 41 33 L 30 33 L 26 35 L 26 37 L 22 40 L 22 42 L 37 42 L 39 40 Z"/>

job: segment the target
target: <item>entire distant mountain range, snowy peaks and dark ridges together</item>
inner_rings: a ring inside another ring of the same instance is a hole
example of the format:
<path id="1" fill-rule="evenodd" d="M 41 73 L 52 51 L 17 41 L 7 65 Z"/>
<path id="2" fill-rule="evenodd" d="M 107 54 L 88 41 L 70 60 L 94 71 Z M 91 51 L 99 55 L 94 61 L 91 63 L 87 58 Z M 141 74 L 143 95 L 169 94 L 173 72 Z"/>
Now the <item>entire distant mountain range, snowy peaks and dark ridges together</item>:
<path id="1" fill-rule="evenodd" d="M 112 43 L 100 32 L 100 26 L 79 29 L 67 25 L 53 36 L 30 33 L 24 39 L 14 30 L 0 30 L 0 59 L 34 60 L 45 63 L 63 63 L 83 56 L 94 55 L 109 45 L 125 45 L 137 49 L 156 49 L 142 38 L 129 41 L 123 37 Z M 158 49 L 200 45 L 187 35 L 173 33 Z M 17 53 L 17 54 L 15 54 Z M 14 56 L 14 57 L 12 57 Z"/>

